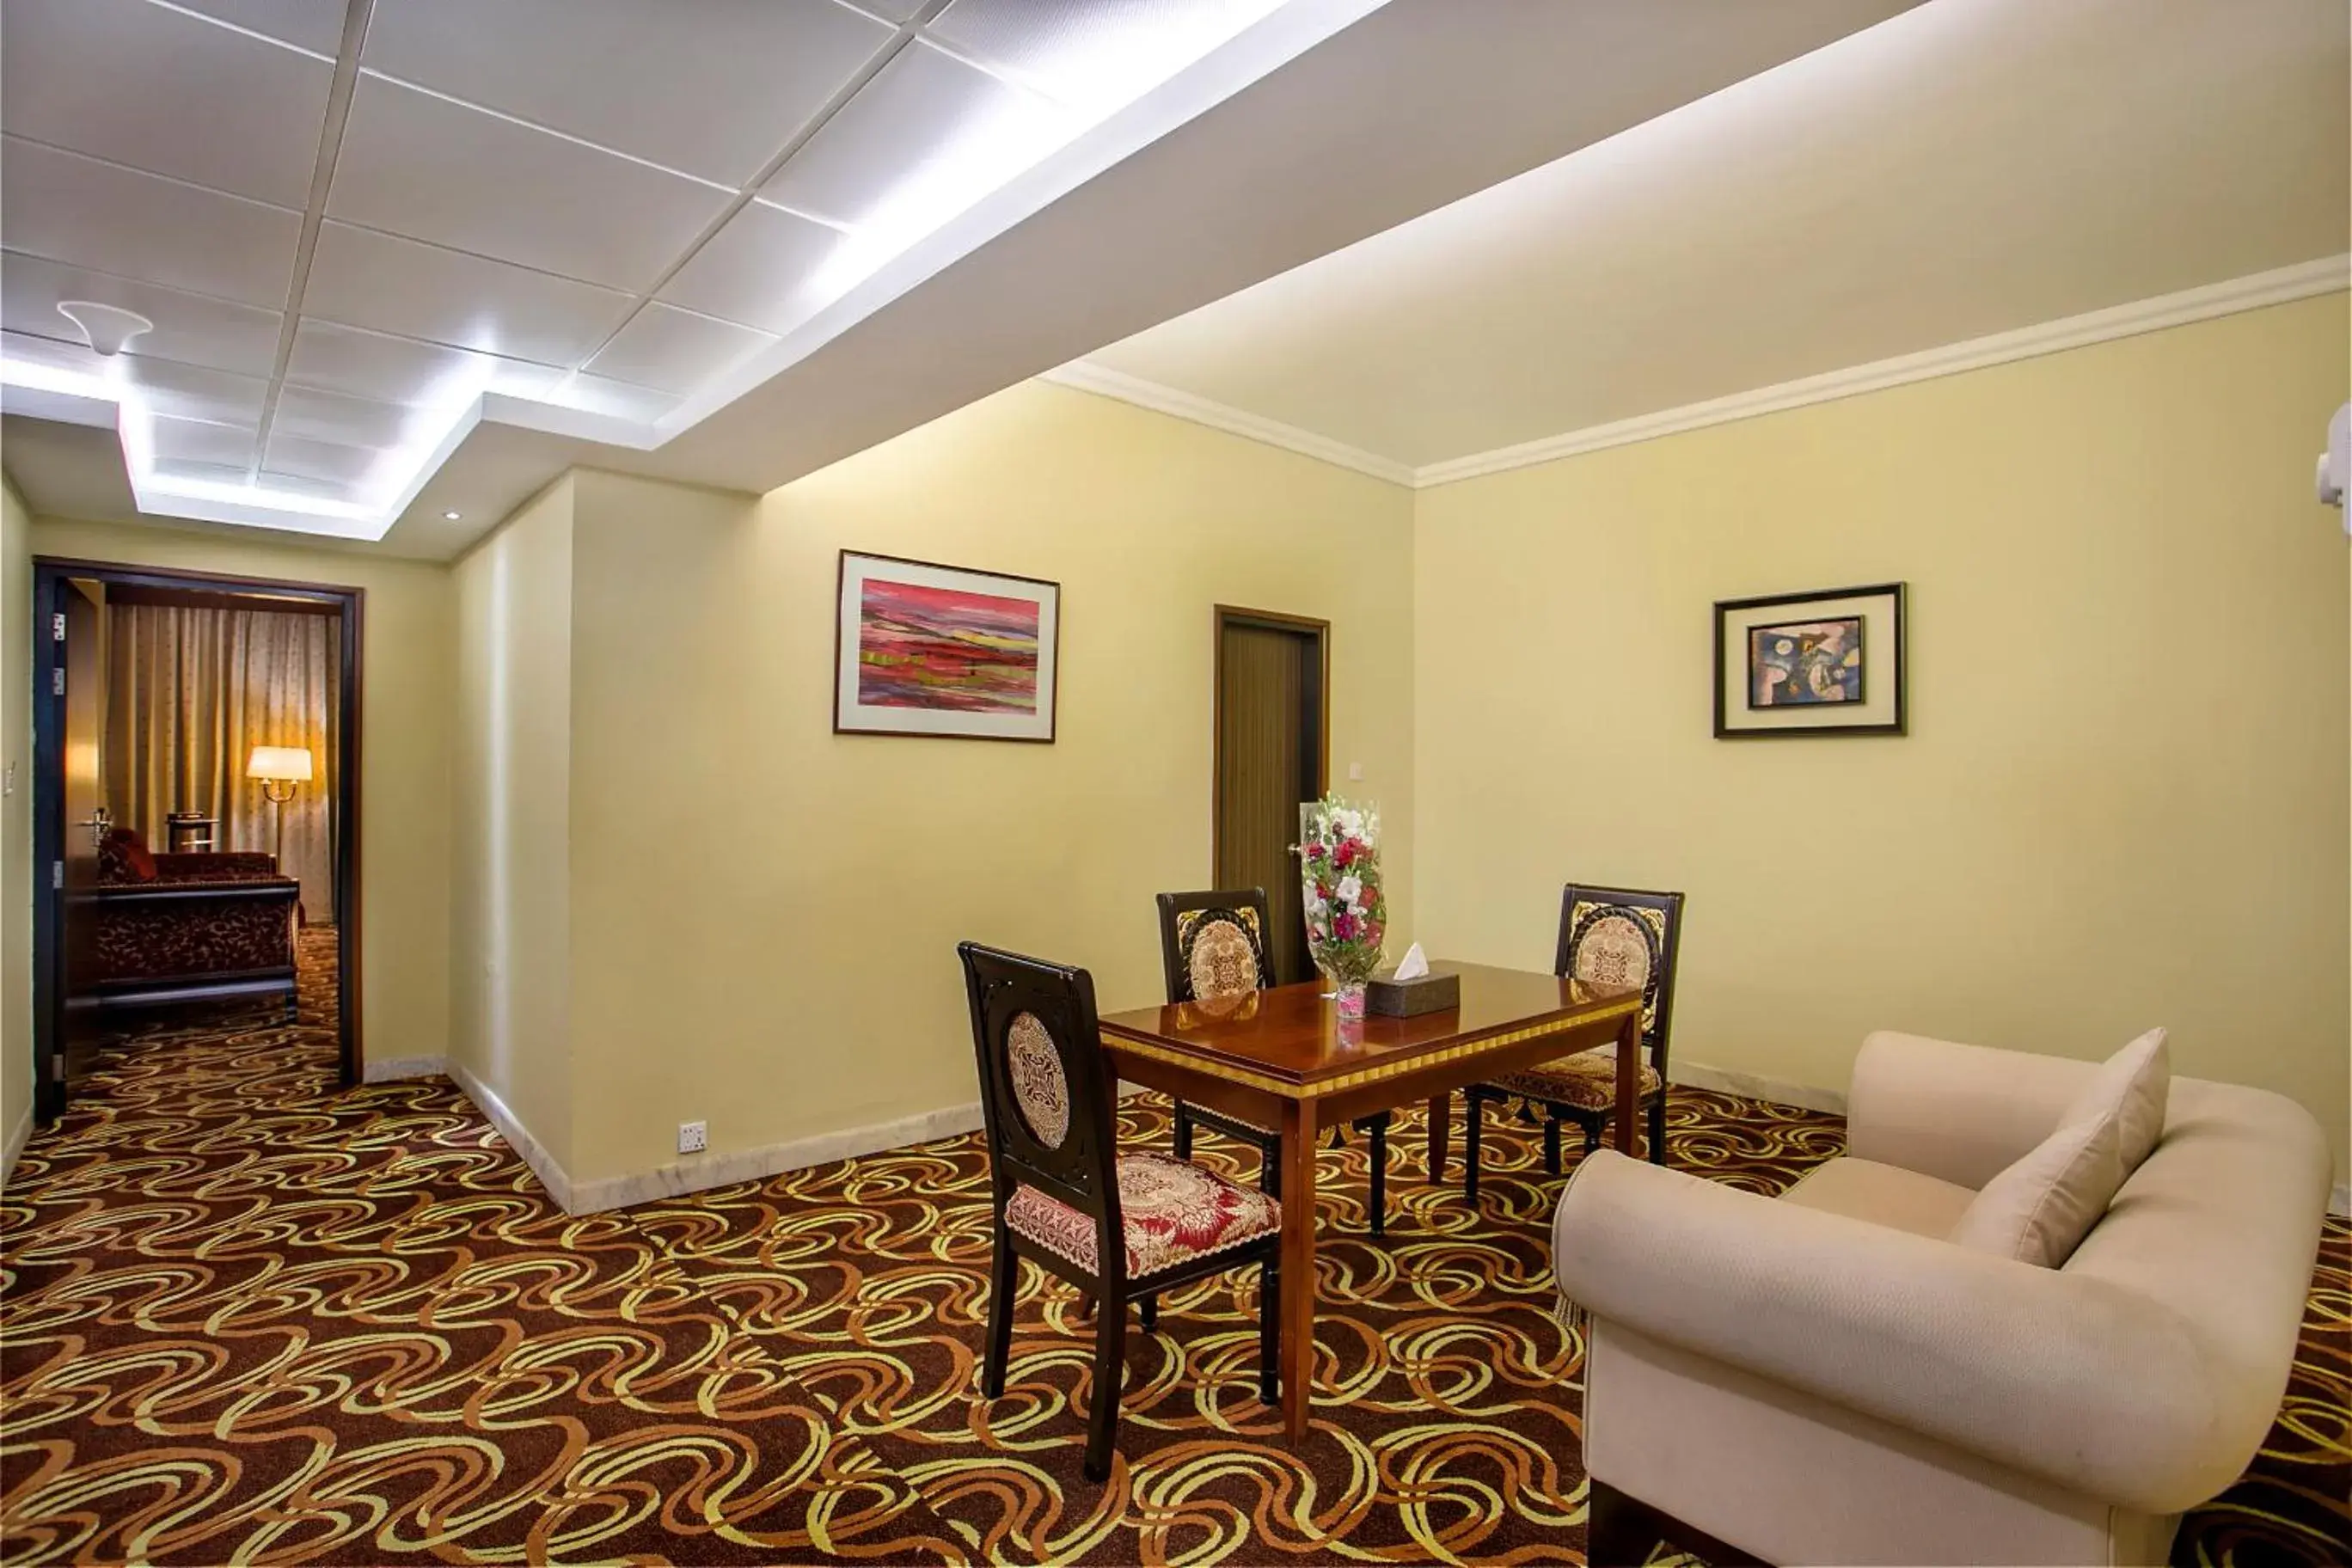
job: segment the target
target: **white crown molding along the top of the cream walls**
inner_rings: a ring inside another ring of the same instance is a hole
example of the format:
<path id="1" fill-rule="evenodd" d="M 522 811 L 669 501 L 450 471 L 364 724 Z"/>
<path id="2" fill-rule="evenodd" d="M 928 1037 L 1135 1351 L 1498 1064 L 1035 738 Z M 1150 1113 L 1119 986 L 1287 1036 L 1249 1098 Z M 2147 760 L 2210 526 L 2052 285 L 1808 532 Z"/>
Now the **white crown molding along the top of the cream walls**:
<path id="1" fill-rule="evenodd" d="M 1508 473 L 1512 468 L 1557 463 L 1559 458 L 1573 458 L 1585 451 L 1632 447 L 1635 442 L 1651 442 L 1661 435 L 1679 435 L 1684 430 L 1703 430 L 1708 425 L 1729 425 L 1759 414 L 1780 414 L 1783 409 L 1802 409 L 1816 402 L 1837 402 L 1839 397 L 1882 393 L 1886 388 L 1910 386 L 1912 381 L 1959 376 L 1971 369 L 2034 360 L 2039 355 L 2065 353 L 2067 348 L 2089 348 L 2091 343 L 2131 339 L 2143 331 L 2187 327 L 2190 322 L 2237 315 L 2239 310 L 2284 306 L 2298 299 L 2336 294 L 2347 287 L 2352 287 L 2352 254 L 2321 256 L 2317 261 L 2303 261 L 2270 273 L 2251 273 L 2246 277 L 2230 277 L 2197 289 L 2180 289 L 2178 294 L 2157 294 L 2154 299 L 2138 299 L 2105 310 L 2067 315 L 2056 322 L 2037 322 L 2032 327 L 2018 327 L 2016 331 L 1994 331 L 1983 339 L 1924 348 L 1919 353 L 1896 355 L 1893 360 L 1849 364 L 1846 369 L 1825 371 L 1820 376 L 1804 376 L 1799 381 L 1759 386 L 1750 393 L 1689 402 L 1679 409 L 1661 409 L 1656 414 L 1618 418 L 1606 425 L 1585 425 L 1583 430 L 1545 435 L 1543 440 L 1519 442 L 1517 447 L 1472 451 L 1470 456 L 1423 463 L 1421 468 L 1336 442 L 1329 435 L 1301 430 L 1298 425 L 1284 425 L 1282 421 L 1211 402 L 1209 397 L 1197 397 L 1171 386 L 1160 386 L 1157 381 L 1145 381 L 1143 376 L 1129 376 L 1103 364 L 1091 364 L 1087 360 L 1073 360 L 1061 369 L 1051 369 L 1044 374 L 1044 381 L 1058 381 L 1061 386 L 1098 393 L 1103 397 L 1117 397 L 1120 402 L 1131 402 L 1141 409 L 1188 418 L 1197 425 L 1209 425 L 1211 430 L 1225 430 L 1228 435 L 1242 435 L 1254 442 L 1265 442 L 1268 447 L 1282 447 L 1310 458 L 1322 458 L 1324 463 L 1338 463 L 1341 468 L 1352 468 L 1376 480 L 1388 480 L 1390 484 L 1432 489 L 1437 484 L 1456 484 L 1461 480 L 1477 480 L 1482 475 Z"/>

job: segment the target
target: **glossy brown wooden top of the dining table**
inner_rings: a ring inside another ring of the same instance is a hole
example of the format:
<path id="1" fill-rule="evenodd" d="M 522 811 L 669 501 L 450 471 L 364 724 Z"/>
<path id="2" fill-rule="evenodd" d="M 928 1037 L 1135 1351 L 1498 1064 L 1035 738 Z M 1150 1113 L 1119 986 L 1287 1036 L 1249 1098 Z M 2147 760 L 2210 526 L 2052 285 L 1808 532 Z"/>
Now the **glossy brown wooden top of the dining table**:
<path id="1" fill-rule="evenodd" d="M 1581 1023 L 1623 1018 L 1639 1006 L 1637 990 L 1613 990 L 1524 969 L 1430 964 L 1461 978 L 1461 1006 L 1341 1025 L 1324 980 L 1277 985 L 1216 1001 L 1171 1001 L 1101 1018 L 1105 1044 L 1152 1056 L 1192 1058 L 1223 1077 L 1240 1070 L 1272 1084 L 1327 1086 L 1367 1070 L 1404 1070 L 1470 1044 L 1501 1044 L 1524 1032 L 1562 1032 Z"/>

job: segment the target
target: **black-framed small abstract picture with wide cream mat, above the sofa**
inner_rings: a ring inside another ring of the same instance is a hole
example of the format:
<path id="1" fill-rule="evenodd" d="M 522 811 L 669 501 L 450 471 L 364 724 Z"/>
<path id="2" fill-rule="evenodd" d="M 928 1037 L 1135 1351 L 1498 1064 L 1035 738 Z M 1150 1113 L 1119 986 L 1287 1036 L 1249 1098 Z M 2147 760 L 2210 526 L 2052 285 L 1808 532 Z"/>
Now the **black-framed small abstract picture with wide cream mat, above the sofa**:
<path id="1" fill-rule="evenodd" d="M 1900 736 L 1903 583 L 1715 604 L 1715 738 Z"/>

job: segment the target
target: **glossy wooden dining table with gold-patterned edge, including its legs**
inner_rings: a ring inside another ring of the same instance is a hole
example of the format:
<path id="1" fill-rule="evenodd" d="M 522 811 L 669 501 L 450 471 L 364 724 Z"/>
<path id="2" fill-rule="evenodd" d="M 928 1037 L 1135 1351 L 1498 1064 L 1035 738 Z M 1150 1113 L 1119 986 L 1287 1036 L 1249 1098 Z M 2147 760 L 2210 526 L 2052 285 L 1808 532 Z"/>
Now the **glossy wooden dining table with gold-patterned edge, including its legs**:
<path id="1" fill-rule="evenodd" d="M 1305 1436 L 1315 1375 L 1315 1140 L 1327 1126 L 1425 1100 L 1428 1173 L 1444 1180 L 1449 1100 L 1576 1051 L 1616 1044 L 1616 1147 L 1639 1154 L 1639 990 L 1550 973 L 1432 964 L 1461 1004 L 1418 1018 L 1341 1020 L 1322 983 L 1105 1013 L 1120 1079 L 1282 1135 L 1282 1429 Z"/>

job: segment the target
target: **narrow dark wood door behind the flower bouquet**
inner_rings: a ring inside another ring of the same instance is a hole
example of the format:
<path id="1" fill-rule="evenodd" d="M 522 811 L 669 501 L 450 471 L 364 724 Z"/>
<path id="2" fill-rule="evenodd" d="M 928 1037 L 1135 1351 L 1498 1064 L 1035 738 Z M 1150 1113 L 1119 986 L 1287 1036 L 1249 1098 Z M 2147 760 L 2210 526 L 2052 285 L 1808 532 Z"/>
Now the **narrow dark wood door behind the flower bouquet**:
<path id="1" fill-rule="evenodd" d="M 1298 900 L 1298 804 L 1331 776 L 1331 623 L 1216 607 L 1216 886 L 1265 889 L 1275 978 L 1315 973 Z"/>

